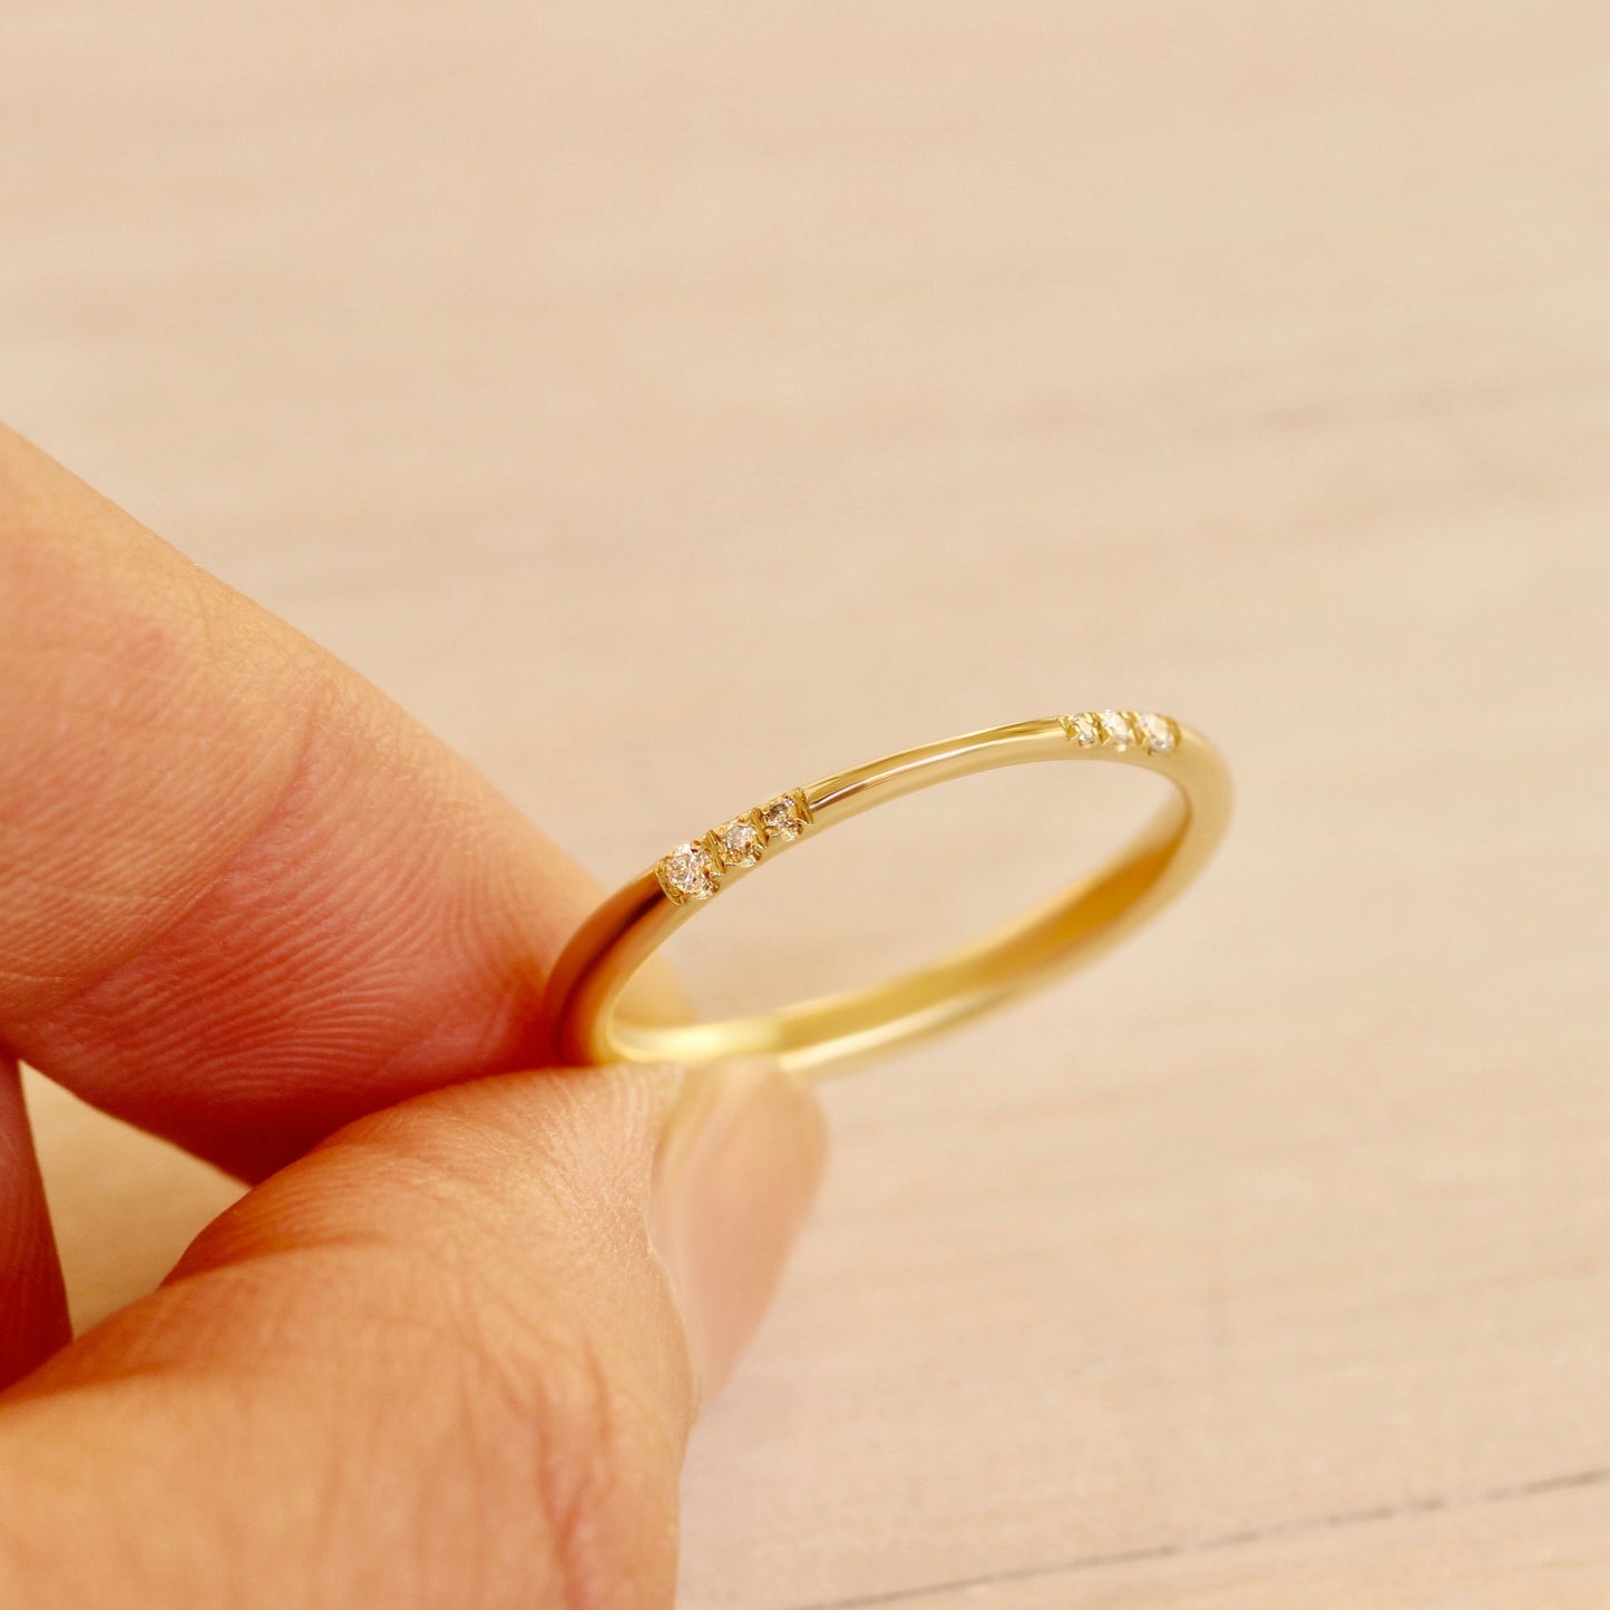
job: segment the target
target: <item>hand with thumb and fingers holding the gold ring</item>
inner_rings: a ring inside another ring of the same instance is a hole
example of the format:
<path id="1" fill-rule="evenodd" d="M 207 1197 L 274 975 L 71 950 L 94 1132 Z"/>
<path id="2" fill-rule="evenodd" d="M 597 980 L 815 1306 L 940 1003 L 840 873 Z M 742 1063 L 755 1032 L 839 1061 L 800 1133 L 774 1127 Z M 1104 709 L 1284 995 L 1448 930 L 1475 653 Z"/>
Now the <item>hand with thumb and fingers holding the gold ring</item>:
<path id="1" fill-rule="evenodd" d="M 0 433 L 0 1604 L 671 1604 L 824 1135 L 763 1064 L 546 1066 L 596 895 Z M 71 1344 L 10 1053 L 261 1182 Z"/>

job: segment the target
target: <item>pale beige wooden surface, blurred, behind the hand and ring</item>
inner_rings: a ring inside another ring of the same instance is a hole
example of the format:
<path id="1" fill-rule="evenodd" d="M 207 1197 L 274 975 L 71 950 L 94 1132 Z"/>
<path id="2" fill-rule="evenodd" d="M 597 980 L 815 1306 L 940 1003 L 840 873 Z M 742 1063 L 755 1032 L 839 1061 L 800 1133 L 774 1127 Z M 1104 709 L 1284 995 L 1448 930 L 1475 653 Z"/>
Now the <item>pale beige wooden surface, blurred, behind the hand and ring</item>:
<path id="1" fill-rule="evenodd" d="M 1610 1602 L 1599 0 L 8 0 L 0 85 L 11 420 L 602 877 L 1096 702 L 1232 758 L 1164 923 L 828 1092 L 689 1610 Z M 1145 803 L 987 781 L 696 989 Z M 229 1187 L 34 1096 L 87 1319 Z"/>

